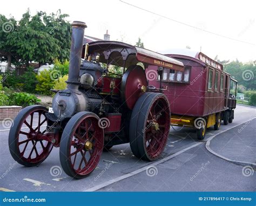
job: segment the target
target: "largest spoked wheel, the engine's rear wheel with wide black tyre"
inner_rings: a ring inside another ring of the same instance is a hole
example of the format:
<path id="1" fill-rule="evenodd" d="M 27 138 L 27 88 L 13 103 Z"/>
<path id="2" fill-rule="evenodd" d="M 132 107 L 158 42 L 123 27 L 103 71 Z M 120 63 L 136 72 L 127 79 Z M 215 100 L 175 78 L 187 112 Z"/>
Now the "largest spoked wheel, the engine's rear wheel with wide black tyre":
<path id="1" fill-rule="evenodd" d="M 136 102 L 130 120 L 130 146 L 143 160 L 158 159 L 170 130 L 170 106 L 161 93 L 147 92 Z"/>

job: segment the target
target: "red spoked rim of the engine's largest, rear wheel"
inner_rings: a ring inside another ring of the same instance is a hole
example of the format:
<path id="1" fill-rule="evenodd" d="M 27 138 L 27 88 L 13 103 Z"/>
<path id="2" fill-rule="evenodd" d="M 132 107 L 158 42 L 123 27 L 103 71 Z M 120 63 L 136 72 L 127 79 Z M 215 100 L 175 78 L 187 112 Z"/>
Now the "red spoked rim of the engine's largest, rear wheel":
<path id="1" fill-rule="evenodd" d="M 158 129 L 154 128 L 158 124 Z M 154 101 L 146 120 L 144 148 L 150 159 L 163 152 L 170 130 L 169 105 L 163 97 Z"/>

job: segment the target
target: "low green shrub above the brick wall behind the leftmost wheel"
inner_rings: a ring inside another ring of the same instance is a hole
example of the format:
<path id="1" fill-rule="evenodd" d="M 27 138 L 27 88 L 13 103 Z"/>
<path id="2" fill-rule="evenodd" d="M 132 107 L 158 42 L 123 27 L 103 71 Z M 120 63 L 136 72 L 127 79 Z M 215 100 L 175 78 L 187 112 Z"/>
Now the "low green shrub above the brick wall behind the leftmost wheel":
<path id="1" fill-rule="evenodd" d="M 26 107 L 29 105 L 35 105 L 41 100 L 39 100 L 35 95 L 25 93 L 25 92 L 15 92 L 9 97 L 10 105 L 17 105 Z"/>

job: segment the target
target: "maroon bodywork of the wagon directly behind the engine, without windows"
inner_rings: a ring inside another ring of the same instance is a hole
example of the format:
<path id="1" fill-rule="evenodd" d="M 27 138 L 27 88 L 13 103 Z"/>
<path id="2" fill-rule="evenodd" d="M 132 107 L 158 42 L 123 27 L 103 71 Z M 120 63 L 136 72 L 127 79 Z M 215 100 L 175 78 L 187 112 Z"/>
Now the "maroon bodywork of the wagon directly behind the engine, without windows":
<path id="1" fill-rule="evenodd" d="M 227 79 L 230 78 L 230 74 L 223 72 L 219 68 L 214 68 L 194 57 L 180 54 L 167 54 L 167 56 L 176 58 L 182 61 L 185 67 L 191 68 L 190 80 L 187 83 L 162 82 L 161 86 L 163 88 L 167 87 L 164 94 L 169 99 L 172 114 L 207 116 L 227 109 L 225 100 L 228 98 L 229 83 Z M 157 69 L 157 66 L 149 66 L 148 68 L 148 70 L 154 71 L 157 71 Z M 207 88 L 209 70 L 213 71 L 212 88 L 210 90 Z M 214 89 L 216 72 L 219 73 L 217 90 Z M 221 74 L 224 75 L 224 88 L 222 91 L 219 86 Z M 159 88 L 160 82 L 159 80 L 149 81 L 149 85 Z"/>

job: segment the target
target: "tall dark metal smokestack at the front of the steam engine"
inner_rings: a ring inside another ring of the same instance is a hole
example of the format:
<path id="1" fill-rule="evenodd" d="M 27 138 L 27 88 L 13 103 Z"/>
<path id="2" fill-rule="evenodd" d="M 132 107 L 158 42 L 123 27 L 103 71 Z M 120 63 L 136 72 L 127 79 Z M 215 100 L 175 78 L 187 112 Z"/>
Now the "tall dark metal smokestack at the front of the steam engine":
<path id="1" fill-rule="evenodd" d="M 69 59 L 69 78 L 68 88 L 77 90 L 79 86 L 79 72 L 83 50 L 84 29 L 87 28 L 84 22 L 73 22 L 72 24 L 72 37 Z"/>

